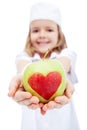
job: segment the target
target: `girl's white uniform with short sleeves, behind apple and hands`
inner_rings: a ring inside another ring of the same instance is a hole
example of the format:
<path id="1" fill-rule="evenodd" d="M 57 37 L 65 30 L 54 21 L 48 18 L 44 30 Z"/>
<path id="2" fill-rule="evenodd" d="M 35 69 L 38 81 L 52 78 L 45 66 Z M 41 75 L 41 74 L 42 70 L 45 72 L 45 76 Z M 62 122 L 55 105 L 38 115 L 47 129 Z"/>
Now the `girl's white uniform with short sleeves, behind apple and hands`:
<path id="1" fill-rule="evenodd" d="M 76 83 L 77 78 L 74 73 L 76 54 L 66 48 L 60 54 L 53 52 L 50 58 L 54 59 L 60 56 L 68 56 L 71 59 L 71 73 L 67 77 Z M 35 54 L 34 57 L 29 57 L 26 52 L 22 52 L 17 56 L 16 63 L 19 59 L 34 62 L 40 60 L 40 56 Z M 39 109 L 31 110 L 23 106 L 22 110 L 21 130 L 80 130 L 72 100 L 62 108 L 48 110 L 44 116 L 41 115 Z"/>

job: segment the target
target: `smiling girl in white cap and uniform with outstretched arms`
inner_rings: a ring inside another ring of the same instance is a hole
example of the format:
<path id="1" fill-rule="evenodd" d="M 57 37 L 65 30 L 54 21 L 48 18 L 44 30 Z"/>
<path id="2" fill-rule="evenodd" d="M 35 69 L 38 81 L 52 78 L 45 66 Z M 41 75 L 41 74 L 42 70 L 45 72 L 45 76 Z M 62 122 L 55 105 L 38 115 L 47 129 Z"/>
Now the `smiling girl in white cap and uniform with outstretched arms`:
<path id="1" fill-rule="evenodd" d="M 62 96 L 42 104 L 37 97 L 24 90 L 21 78 L 26 65 L 41 60 L 48 50 L 47 58 L 57 59 L 63 65 L 67 84 Z M 73 84 L 77 82 L 75 62 L 76 54 L 67 48 L 61 30 L 58 8 L 47 3 L 33 5 L 25 49 L 16 57 L 17 75 L 12 78 L 8 93 L 22 104 L 21 130 L 80 130 L 71 99 Z"/>

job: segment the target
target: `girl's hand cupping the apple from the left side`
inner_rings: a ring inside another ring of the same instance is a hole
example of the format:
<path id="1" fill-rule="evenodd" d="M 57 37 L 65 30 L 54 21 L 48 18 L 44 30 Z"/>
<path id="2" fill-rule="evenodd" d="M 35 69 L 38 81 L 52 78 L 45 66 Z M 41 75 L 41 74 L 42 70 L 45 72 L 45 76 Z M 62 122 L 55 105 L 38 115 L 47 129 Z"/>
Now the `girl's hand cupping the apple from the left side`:
<path id="1" fill-rule="evenodd" d="M 40 107 L 39 99 L 25 92 L 21 83 L 21 76 L 15 76 L 9 85 L 9 97 L 12 97 L 17 103 L 26 105 L 28 108 L 36 109 Z"/>

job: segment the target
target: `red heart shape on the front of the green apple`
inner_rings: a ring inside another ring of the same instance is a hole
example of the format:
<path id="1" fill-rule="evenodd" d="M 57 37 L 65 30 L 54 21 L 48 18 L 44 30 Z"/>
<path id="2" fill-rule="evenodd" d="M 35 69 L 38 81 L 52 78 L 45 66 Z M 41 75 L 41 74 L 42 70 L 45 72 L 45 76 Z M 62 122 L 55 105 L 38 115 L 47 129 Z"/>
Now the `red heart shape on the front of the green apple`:
<path id="1" fill-rule="evenodd" d="M 58 90 L 62 77 L 58 72 L 50 72 L 46 76 L 34 73 L 28 80 L 29 85 L 44 99 L 49 98 Z"/>

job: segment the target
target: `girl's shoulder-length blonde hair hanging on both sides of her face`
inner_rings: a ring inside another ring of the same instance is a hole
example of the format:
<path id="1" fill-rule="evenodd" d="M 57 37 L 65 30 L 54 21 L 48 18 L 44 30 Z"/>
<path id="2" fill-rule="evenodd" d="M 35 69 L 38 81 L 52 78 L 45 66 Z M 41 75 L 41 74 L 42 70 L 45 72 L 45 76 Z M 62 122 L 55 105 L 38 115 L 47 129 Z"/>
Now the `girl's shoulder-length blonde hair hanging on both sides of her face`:
<path id="1" fill-rule="evenodd" d="M 50 52 L 57 52 L 57 53 L 60 53 L 62 51 L 62 49 L 64 48 L 67 48 L 67 44 L 66 44 L 66 39 L 65 39 L 65 36 L 61 30 L 61 27 L 58 26 L 58 32 L 59 32 L 59 36 L 58 36 L 58 42 L 56 44 L 56 46 L 52 49 L 49 50 L 49 53 Z M 28 33 L 28 36 L 27 36 L 27 40 L 26 40 L 26 44 L 25 44 L 25 48 L 24 50 L 31 56 L 33 57 L 35 52 L 37 52 L 36 48 L 34 48 L 32 46 L 32 43 L 30 41 L 30 31 Z"/>

